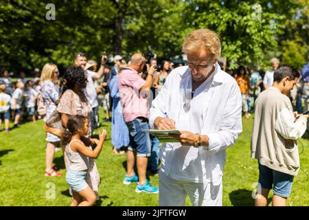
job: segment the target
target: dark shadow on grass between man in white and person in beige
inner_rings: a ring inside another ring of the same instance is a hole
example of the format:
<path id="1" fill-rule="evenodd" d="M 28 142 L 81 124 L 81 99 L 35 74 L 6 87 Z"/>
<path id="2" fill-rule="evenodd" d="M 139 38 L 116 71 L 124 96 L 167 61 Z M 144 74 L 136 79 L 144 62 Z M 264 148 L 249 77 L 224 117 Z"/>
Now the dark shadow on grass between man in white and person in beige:
<path id="1" fill-rule="evenodd" d="M 229 194 L 229 199 L 233 206 L 254 206 L 252 191 L 239 189 Z M 271 198 L 267 199 L 267 204 L 271 203 Z"/>

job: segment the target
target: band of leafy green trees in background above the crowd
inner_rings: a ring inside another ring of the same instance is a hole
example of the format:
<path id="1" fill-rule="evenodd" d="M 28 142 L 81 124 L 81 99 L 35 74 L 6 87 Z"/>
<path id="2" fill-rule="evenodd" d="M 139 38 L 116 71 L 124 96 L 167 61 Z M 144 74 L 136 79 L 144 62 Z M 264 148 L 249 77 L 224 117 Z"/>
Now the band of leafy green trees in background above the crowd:
<path id="1" fill-rule="evenodd" d="M 51 21 L 45 18 L 47 1 L 0 1 L 0 69 L 15 72 L 49 61 L 67 67 L 76 52 L 96 60 L 103 51 L 172 58 L 197 28 L 221 36 L 222 56 L 231 67 L 264 65 L 267 56 L 290 47 L 307 48 L 302 56 L 308 58 L 306 0 L 54 0 L 56 19 Z"/>

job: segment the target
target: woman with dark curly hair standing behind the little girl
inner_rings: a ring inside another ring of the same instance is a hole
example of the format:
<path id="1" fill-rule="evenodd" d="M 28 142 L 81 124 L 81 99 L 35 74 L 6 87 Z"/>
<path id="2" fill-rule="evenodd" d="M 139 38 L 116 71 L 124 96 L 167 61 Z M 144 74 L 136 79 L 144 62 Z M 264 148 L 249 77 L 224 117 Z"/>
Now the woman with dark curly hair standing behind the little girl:
<path id="1" fill-rule="evenodd" d="M 82 115 L 88 118 L 89 128 L 91 128 L 91 105 L 87 101 L 85 88 L 87 85 L 87 75 L 81 67 L 69 67 L 65 72 L 64 80 L 61 87 L 61 98 L 57 110 L 61 113 L 63 126 L 67 125 L 70 115 Z M 87 137 L 82 141 L 86 146 L 91 145 L 91 129 L 89 129 Z M 70 166 L 67 154 L 67 146 L 63 149 L 65 158 L 65 168 L 68 170 Z M 94 159 L 89 158 L 89 168 L 87 171 L 87 184 L 91 186 L 97 198 L 99 197 L 100 175 Z"/>

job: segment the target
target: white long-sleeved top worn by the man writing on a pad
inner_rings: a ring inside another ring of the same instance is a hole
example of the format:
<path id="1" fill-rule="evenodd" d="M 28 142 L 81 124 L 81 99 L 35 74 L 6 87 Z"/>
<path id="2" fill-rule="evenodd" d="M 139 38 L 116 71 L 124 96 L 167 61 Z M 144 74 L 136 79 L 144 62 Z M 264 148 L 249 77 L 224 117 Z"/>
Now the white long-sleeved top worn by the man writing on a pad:
<path id="1" fill-rule="evenodd" d="M 191 100 L 190 69 L 178 67 L 166 78 L 159 95 L 152 101 L 149 124 L 157 117 L 176 122 L 176 129 L 201 133 L 209 137 L 209 146 L 194 148 L 180 143 L 165 143 L 160 151 L 161 170 L 181 181 L 221 184 L 225 149 L 236 142 L 242 132 L 242 98 L 236 80 L 216 69 L 194 93 Z M 185 102 L 190 108 L 183 107 Z"/>

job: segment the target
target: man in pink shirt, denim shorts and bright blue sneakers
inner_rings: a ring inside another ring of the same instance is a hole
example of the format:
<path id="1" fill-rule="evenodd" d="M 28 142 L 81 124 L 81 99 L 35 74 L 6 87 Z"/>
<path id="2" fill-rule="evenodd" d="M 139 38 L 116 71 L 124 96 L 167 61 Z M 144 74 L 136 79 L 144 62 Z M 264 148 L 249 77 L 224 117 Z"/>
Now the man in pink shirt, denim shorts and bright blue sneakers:
<path id="1" fill-rule="evenodd" d="M 124 121 L 128 126 L 130 135 L 130 146 L 127 153 L 127 172 L 124 177 L 124 184 L 132 181 L 139 181 L 136 192 L 158 193 L 159 188 L 149 184 L 146 179 L 148 157 L 151 155 L 151 143 L 149 133 L 143 129 L 148 126 L 148 98 L 152 85 L 155 67 L 148 69 L 146 80 L 139 76 L 144 69 L 146 58 L 142 54 L 133 54 L 130 65 L 120 72 L 118 87 L 119 96 L 122 102 Z M 137 175 L 134 172 L 135 154 L 137 151 Z"/>

